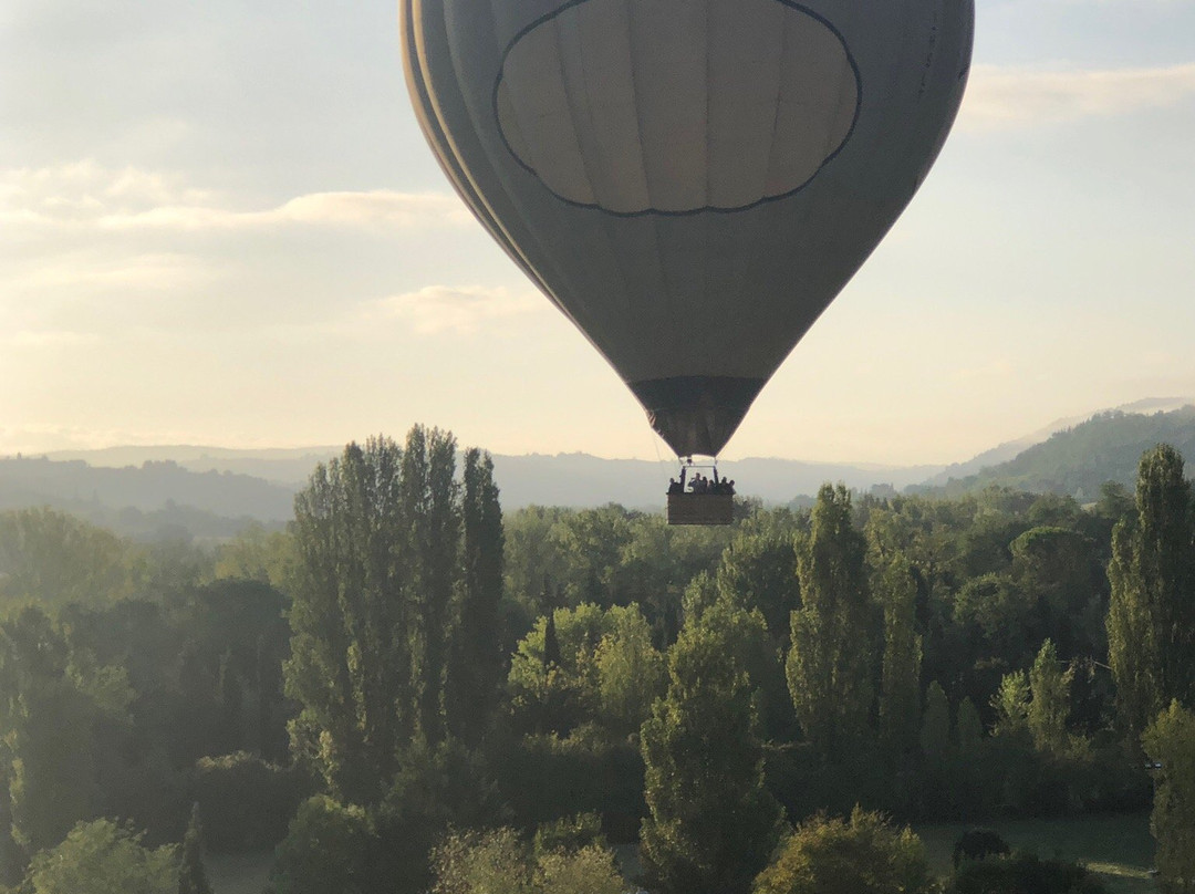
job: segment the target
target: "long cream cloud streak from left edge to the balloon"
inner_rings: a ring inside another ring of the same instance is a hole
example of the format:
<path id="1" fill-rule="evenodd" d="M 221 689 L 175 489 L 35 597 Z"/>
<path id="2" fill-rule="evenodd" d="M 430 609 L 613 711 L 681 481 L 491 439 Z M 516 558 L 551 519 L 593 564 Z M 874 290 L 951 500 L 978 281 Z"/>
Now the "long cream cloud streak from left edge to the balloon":
<path id="1" fill-rule="evenodd" d="M 0 228 L 241 231 L 278 226 L 411 229 L 472 220 L 456 196 L 392 190 L 312 192 L 264 209 L 237 208 L 182 177 L 92 161 L 0 172 Z"/>

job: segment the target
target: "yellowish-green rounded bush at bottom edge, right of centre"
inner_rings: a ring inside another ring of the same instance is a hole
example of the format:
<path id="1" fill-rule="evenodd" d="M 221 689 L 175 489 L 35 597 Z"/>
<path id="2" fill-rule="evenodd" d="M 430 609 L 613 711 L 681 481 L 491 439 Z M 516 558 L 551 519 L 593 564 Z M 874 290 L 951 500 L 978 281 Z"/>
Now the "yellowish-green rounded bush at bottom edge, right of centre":
<path id="1" fill-rule="evenodd" d="M 920 839 L 887 818 L 854 808 L 848 821 L 825 815 L 797 826 L 753 894 L 933 894 Z"/>

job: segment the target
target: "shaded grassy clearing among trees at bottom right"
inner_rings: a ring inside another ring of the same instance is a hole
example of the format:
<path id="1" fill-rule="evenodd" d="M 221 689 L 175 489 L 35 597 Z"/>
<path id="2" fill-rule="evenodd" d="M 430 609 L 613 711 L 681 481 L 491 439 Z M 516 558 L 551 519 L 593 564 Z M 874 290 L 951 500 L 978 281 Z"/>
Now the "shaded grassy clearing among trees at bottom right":
<path id="1" fill-rule="evenodd" d="M 1148 876 L 1153 865 L 1150 815 L 1099 814 L 1058 820 L 1011 820 L 982 823 L 1017 850 L 1043 858 L 1072 859 L 1098 872 L 1113 894 L 1156 894 Z M 970 823 L 917 826 L 933 869 L 949 875 L 955 840 Z"/>

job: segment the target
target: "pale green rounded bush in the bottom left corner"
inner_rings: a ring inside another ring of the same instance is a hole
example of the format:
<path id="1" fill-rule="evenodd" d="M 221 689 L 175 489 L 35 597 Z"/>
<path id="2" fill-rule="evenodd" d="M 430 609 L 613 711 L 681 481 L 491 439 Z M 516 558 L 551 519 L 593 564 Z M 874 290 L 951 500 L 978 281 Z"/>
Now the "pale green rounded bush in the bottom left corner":
<path id="1" fill-rule="evenodd" d="M 33 857 L 33 894 L 177 894 L 173 845 L 151 850 L 111 820 L 81 822 L 57 846 Z"/>

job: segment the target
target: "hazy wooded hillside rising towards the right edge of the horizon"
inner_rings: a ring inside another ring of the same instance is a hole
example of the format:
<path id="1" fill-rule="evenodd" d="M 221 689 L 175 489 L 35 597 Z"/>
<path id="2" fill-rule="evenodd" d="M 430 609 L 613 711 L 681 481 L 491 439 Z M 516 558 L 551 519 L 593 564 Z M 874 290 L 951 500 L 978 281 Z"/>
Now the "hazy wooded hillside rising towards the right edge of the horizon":
<path id="1" fill-rule="evenodd" d="M 1121 410 L 1096 414 L 1086 422 L 1053 434 L 1015 459 L 945 484 L 915 490 L 956 494 L 999 484 L 1093 500 L 1108 480 L 1132 488 L 1141 454 L 1158 443 L 1172 445 L 1195 461 L 1195 406 L 1148 415 Z"/>

